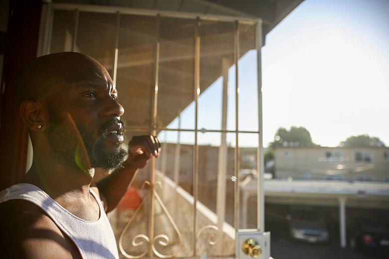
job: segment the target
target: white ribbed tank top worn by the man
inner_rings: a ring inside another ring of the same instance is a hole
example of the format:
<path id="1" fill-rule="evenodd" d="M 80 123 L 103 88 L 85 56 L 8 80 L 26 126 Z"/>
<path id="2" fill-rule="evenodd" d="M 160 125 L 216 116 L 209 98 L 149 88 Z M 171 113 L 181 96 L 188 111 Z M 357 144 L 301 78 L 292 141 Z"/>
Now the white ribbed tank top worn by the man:
<path id="1" fill-rule="evenodd" d="M 83 259 L 119 259 L 115 236 L 97 195 L 100 218 L 97 221 L 82 220 L 64 209 L 35 185 L 19 183 L 0 192 L 0 203 L 21 199 L 39 206 L 76 245 Z"/>

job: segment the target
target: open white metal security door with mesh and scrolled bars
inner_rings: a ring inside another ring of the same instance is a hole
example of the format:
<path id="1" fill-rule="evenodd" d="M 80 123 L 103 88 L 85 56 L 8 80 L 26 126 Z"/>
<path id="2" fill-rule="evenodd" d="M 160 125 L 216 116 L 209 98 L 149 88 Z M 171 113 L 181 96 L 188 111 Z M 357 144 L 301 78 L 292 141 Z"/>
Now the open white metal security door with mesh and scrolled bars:
<path id="1" fill-rule="evenodd" d="M 263 232 L 261 21 L 44 5 L 38 55 L 77 51 L 109 71 L 131 135 L 159 135 L 109 217 L 123 258 L 235 256 Z"/>

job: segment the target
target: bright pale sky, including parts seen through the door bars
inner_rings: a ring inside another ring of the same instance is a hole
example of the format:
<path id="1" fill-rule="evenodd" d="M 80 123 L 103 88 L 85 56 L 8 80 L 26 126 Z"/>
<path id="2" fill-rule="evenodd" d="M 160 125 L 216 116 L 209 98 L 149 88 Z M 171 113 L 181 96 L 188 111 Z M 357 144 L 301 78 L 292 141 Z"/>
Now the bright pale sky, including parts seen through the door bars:
<path id="1" fill-rule="evenodd" d="M 369 134 L 389 145 L 389 0 L 304 0 L 266 36 L 262 54 L 263 145 L 278 128 L 305 127 L 322 146 Z M 258 130 L 256 51 L 239 59 L 239 130 Z M 235 67 L 228 71 L 227 129 L 235 130 Z M 222 78 L 198 97 L 198 129 L 220 129 Z M 194 104 L 181 114 L 194 128 Z M 179 128 L 178 120 L 168 128 Z M 163 133 L 165 134 L 165 133 Z M 220 133 L 199 134 L 218 145 Z M 175 142 L 177 133 L 168 133 Z M 192 143 L 194 136 L 182 135 Z M 232 135 L 227 142 L 234 144 Z M 258 138 L 241 134 L 240 146 Z"/>

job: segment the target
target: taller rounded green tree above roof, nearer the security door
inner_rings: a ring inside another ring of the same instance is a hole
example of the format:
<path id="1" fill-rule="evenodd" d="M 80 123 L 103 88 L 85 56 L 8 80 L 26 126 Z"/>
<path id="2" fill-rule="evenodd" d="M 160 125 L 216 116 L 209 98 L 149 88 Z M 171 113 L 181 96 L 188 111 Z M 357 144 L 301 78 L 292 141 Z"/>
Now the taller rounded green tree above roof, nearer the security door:
<path id="1" fill-rule="evenodd" d="M 277 129 L 271 147 L 277 146 L 316 146 L 312 142 L 311 134 L 304 127 L 292 126 L 289 130 L 285 128 Z"/>

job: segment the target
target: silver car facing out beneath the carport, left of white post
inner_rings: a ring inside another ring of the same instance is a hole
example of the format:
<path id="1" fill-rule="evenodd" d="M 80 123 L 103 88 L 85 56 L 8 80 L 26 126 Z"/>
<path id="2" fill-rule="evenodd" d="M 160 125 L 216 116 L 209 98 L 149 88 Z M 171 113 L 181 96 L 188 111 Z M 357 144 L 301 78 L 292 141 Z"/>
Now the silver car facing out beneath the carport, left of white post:
<path id="1" fill-rule="evenodd" d="M 289 233 L 295 240 L 309 243 L 324 243 L 329 232 L 324 218 L 312 208 L 291 208 L 287 215 Z"/>

